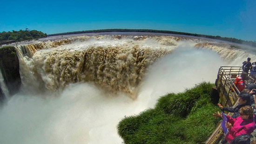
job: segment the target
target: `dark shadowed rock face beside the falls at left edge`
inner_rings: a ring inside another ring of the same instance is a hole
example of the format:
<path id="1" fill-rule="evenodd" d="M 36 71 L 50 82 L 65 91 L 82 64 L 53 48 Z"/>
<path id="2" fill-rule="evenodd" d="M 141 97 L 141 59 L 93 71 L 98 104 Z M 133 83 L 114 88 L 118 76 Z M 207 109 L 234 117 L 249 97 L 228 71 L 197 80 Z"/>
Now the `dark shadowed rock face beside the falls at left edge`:
<path id="1" fill-rule="evenodd" d="M 13 46 L 0 48 L 0 68 L 10 95 L 19 92 L 21 84 L 19 59 Z M 4 98 L 2 90 L 0 91 L 0 97 Z"/>

